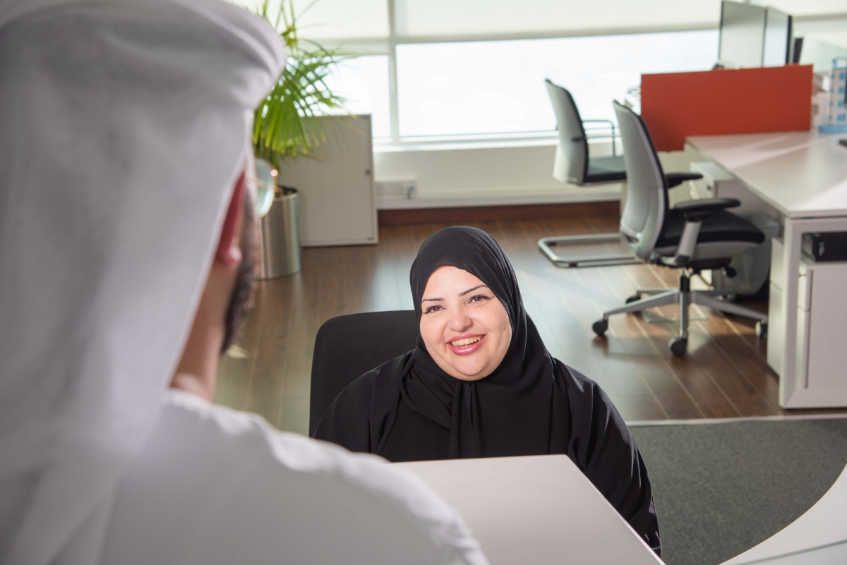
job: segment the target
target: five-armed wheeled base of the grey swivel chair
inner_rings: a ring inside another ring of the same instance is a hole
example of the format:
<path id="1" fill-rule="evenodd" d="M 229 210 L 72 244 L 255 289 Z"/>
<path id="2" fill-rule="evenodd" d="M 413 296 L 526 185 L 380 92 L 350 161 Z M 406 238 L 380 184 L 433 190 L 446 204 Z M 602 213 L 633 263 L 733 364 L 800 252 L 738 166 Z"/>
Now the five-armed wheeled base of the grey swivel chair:
<path id="1" fill-rule="evenodd" d="M 726 299 L 734 298 L 734 294 L 727 291 L 691 290 L 692 274 L 693 272 L 690 269 L 683 269 L 679 274 L 678 288 L 639 288 L 635 291 L 634 296 L 627 299 L 625 306 L 603 312 L 603 318 L 595 321 L 592 329 L 598 336 L 603 337 L 609 328 L 609 316 L 611 315 L 640 312 L 648 308 L 656 308 L 656 306 L 678 304 L 679 336 L 674 337 L 669 345 L 671 353 L 674 355 L 684 355 L 685 349 L 688 346 L 689 305 L 700 304 L 712 310 L 752 318 L 756 320 L 756 335 L 759 337 L 765 337 L 767 335 L 767 314 L 762 314 L 757 310 L 729 302 Z M 641 294 L 647 294 L 648 296 L 642 299 L 640 298 Z"/>

